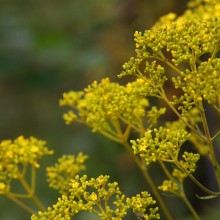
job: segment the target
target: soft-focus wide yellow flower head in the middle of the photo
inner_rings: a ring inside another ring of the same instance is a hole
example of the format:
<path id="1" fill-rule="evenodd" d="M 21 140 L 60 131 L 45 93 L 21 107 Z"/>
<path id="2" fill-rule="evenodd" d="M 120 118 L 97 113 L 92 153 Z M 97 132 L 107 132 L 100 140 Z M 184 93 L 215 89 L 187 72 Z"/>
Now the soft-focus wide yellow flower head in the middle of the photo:
<path id="1" fill-rule="evenodd" d="M 140 118 L 145 116 L 145 108 L 149 104 L 142 96 L 144 88 L 139 86 L 140 81 L 122 86 L 105 78 L 100 83 L 95 81 L 84 92 L 64 93 L 60 105 L 78 111 L 65 113 L 66 123 L 83 122 L 92 127 L 93 131 L 109 131 L 110 122 L 117 120 L 139 126 Z"/>

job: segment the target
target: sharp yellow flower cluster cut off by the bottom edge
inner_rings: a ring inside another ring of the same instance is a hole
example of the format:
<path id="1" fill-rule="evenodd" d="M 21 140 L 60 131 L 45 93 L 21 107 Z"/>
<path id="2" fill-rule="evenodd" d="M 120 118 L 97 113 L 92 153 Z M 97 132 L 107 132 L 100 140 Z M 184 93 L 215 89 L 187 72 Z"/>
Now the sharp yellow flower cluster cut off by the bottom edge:
<path id="1" fill-rule="evenodd" d="M 101 219 L 122 220 L 128 209 L 144 219 L 159 219 L 158 208 L 149 208 L 156 202 L 147 192 L 125 198 L 117 182 L 109 183 L 109 176 L 87 180 L 76 176 L 70 183 L 68 195 L 62 195 L 52 208 L 32 215 L 32 220 L 70 220 L 81 211 L 97 214 Z"/>

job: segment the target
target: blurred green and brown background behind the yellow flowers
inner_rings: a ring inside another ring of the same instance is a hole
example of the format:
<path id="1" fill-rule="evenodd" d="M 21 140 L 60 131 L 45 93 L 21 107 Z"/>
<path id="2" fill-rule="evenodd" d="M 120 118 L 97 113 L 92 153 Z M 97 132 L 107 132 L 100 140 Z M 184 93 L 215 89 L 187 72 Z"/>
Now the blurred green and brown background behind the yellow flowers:
<path id="1" fill-rule="evenodd" d="M 94 80 L 118 80 L 122 64 L 134 54 L 133 33 L 150 28 L 170 11 L 181 14 L 186 3 L 0 0 L 0 140 L 33 135 L 46 140 L 48 147 L 56 151 L 54 156 L 42 159 L 38 171 L 37 191 L 46 206 L 55 203 L 58 194 L 48 190 L 44 166 L 52 165 L 63 153 L 89 154 L 86 173 L 94 177 L 111 175 L 128 195 L 147 189 L 120 146 L 91 133 L 85 126 L 66 126 L 62 119 L 64 109 L 58 106 L 58 100 L 63 92 L 82 90 Z M 187 217 L 182 203 L 170 200 L 167 202 L 175 206 L 176 219 Z M 212 203 L 204 202 L 198 208 L 209 206 Z M 0 219 L 23 220 L 29 216 L 0 196 Z M 97 218 L 85 214 L 76 219 Z"/>

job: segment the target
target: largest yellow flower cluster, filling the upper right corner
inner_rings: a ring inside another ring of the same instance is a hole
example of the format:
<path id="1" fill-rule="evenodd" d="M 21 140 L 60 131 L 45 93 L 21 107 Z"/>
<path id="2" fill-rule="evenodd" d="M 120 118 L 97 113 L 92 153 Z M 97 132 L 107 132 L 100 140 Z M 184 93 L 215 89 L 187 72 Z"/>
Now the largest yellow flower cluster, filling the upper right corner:
<path id="1" fill-rule="evenodd" d="M 166 21 L 144 33 L 135 32 L 134 36 L 136 57 L 123 65 L 120 77 L 141 77 L 148 88 L 146 95 L 157 97 L 163 95 L 164 82 L 172 80 L 174 88 L 184 93 L 175 99 L 182 113 L 202 100 L 216 103 L 220 92 L 219 1 L 205 1 L 178 19 L 169 14 Z M 172 79 L 170 74 L 165 75 L 166 66 L 175 73 Z"/>

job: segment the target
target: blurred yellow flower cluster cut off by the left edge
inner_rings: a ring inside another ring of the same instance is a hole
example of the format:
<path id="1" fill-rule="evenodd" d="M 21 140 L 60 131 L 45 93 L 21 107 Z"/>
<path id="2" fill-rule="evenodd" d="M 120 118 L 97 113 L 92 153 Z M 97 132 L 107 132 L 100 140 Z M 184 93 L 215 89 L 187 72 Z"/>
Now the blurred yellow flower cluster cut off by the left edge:
<path id="1" fill-rule="evenodd" d="M 3 140 L 0 142 L 0 194 L 10 191 L 12 179 L 23 176 L 28 165 L 39 168 L 38 160 L 53 154 L 48 150 L 46 142 L 34 137 L 28 139 L 20 136 L 15 140 Z"/>

